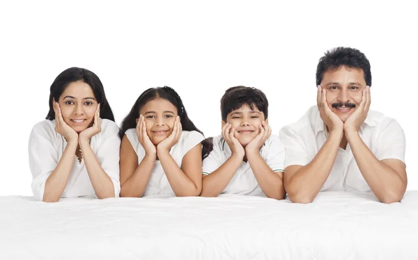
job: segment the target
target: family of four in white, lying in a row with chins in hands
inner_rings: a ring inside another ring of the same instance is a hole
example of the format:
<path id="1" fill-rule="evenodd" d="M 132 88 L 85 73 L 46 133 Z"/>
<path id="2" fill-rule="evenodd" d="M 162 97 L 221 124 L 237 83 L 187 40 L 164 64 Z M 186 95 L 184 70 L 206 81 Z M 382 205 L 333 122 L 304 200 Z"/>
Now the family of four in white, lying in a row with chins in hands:
<path id="1" fill-rule="evenodd" d="M 399 202 L 407 186 L 405 134 L 369 109 L 369 60 L 349 47 L 327 51 L 316 87 L 316 105 L 279 136 L 261 90 L 229 88 L 221 132 L 205 138 L 168 86 L 142 92 L 119 127 L 98 76 L 71 67 L 52 83 L 46 120 L 29 137 L 33 196 L 230 193 L 310 203 L 320 191 L 340 190 Z"/>

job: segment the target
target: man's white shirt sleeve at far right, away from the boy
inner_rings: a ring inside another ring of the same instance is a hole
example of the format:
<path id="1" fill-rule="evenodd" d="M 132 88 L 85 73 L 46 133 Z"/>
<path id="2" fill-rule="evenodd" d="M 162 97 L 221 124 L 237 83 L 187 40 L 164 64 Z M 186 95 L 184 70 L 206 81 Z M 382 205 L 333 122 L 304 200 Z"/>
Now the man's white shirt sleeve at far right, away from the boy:
<path id="1" fill-rule="evenodd" d="M 405 163 L 405 133 L 396 120 L 391 120 L 379 134 L 375 156 L 379 161 L 398 159 Z"/>

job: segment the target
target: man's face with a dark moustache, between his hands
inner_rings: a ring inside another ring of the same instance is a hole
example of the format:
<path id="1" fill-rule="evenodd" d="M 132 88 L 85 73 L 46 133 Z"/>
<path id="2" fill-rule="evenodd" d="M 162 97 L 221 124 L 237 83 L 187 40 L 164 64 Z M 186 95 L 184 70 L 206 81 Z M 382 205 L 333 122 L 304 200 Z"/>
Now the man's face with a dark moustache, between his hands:
<path id="1" fill-rule="evenodd" d="M 332 112 L 346 122 L 362 101 L 362 90 L 366 88 L 364 71 L 346 66 L 327 70 L 320 86 L 327 90 L 327 104 Z"/>

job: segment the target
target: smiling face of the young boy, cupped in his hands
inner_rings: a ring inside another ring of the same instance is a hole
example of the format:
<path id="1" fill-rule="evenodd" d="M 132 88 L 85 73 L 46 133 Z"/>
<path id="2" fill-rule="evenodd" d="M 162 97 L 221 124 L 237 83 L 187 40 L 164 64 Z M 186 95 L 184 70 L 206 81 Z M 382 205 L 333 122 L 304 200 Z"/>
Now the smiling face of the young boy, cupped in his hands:
<path id="1" fill-rule="evenodd" d="M 253 108 L 254 110 L 244 104 L 226 116 L 226 122 L 232 125 L 231 129 L 235 129 L 235 138 L 243 146 L 251 142 L 260 133 L 260 124 L 264 120 L 264 113 L 259 111 L 255 105 L 253 105 Z M 222 127 L 226 122 L 222 121 Z"/>

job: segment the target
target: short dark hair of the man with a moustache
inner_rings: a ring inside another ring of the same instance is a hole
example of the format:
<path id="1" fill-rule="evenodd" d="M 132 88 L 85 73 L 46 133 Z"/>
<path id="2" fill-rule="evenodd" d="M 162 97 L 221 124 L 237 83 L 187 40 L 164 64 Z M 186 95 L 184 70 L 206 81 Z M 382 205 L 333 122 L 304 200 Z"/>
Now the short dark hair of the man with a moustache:
<path id="1" fill-rule="evenodd" d="M 370 63 L 366 56 L 358 49 L 350 47 L 336 47 L 325 52 L 325 56 L 319 59 L 316 67 L 316 86 L 320 85 L 324 73 L 328 70 L 337 70 L 341 66 L 355 67 L 364 72 L 364 81 L 371 87 Z"/>

